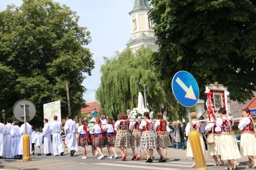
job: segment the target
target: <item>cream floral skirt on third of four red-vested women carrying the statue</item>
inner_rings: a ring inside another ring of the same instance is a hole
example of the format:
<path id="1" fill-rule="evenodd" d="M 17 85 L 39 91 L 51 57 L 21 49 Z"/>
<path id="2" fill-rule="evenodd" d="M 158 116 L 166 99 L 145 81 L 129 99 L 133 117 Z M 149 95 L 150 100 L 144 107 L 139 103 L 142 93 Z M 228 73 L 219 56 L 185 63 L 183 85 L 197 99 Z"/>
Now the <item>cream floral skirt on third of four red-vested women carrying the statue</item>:
<path id="1" fill-rule="evenodd" d="M 155 132 L 142 132 L 140 140 L 140 149 L 156 149 Z"/>

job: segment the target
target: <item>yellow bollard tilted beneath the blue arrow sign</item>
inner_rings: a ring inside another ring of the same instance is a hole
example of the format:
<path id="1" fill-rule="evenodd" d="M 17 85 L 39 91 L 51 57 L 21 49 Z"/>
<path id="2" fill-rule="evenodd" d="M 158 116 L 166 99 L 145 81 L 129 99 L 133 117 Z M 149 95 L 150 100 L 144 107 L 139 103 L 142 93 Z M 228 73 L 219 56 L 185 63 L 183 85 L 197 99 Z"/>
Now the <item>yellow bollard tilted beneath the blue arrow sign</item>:
<path id="1" fill-rule="evenodd" d="M 194 155 L 196 169 L 207 170 L 207 165 L 203 155 L 199 134 L 196 131 L 190 131 L 188 137 Z"/>

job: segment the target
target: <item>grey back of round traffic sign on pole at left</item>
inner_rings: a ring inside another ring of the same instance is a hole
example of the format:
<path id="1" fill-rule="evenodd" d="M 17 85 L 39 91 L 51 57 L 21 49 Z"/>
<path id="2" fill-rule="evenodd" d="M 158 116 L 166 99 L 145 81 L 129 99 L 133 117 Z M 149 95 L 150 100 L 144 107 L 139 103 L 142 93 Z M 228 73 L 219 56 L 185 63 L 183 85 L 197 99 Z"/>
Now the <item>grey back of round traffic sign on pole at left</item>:
<path id="1" fill-rule="evenodd" d="M 35 116 L 35 105 L 27 99 L 19 100 L 14 104 L 13 115 L 24 122 L 24 107 L 26 107 L 26 121 L 30 121 Z"/>

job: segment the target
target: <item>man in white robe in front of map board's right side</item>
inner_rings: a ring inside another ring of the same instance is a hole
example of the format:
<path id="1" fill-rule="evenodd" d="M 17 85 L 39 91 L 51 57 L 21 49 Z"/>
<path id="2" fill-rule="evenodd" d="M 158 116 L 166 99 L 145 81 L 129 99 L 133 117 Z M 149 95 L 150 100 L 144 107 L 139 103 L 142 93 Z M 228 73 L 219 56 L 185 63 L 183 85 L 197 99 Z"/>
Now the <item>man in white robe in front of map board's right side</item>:
<path id="1" fill-rule="evenodd" d="M 54 156 L 58 156 L 59 154 L 62 156 L 64 153 L 64 147 L 60 135 L 61 123 L 58 122 L 58 116 L 55 115 L 53 119 L 54 122 L 50 127 L 51 131 L 53 132 L 53 154 Z"/>

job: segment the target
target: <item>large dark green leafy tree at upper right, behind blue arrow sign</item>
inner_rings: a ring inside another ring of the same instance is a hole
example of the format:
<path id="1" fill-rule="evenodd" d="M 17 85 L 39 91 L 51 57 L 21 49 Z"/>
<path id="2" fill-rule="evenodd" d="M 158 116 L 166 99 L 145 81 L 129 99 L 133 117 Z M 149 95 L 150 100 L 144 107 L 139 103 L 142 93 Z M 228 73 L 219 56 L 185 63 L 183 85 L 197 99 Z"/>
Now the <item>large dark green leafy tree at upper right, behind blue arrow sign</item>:
<path id="1" fill-rule="evenodd" d="M 219 82 L 239 102 L 256 90 L 256 2 L 241 0 L 152 0 L 159 52 L 154 71 L 166 88 L 173 75 L 190 72 L 199 84 Z"/>

